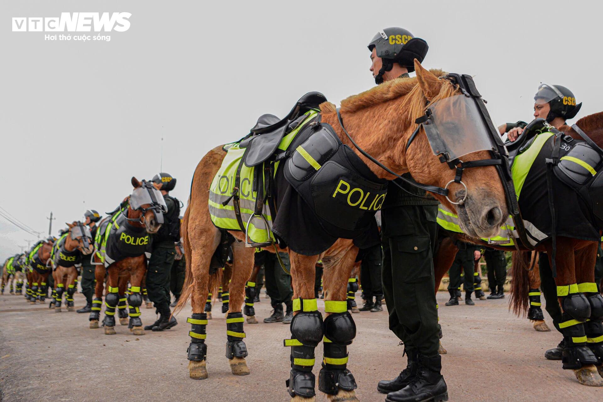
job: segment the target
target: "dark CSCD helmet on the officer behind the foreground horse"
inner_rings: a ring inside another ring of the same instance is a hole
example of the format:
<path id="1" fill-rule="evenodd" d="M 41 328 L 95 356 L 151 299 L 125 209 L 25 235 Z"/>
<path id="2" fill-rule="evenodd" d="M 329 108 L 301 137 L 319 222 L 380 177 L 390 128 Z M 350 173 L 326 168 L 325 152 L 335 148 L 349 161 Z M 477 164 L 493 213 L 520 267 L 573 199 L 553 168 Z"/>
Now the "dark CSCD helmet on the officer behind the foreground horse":
<path id="1" fill-rule="evenodd" d="M 429 46 L 425 40 L 415 38 L 406 29 L 393 26 L 377 32 L 368 44 L 368 50 L 372 52 L 373 48 L 375 48 L 377 57 L 383 60 L 383 66 L 375 76 L 375 82 L 380 84 L 383 82 L 383 74 L 390 71 L 394 63 L 406 67 L 409 73 L 413 72 L 414 59 L 416 58 L 419 63 L 422 63 Z"/>

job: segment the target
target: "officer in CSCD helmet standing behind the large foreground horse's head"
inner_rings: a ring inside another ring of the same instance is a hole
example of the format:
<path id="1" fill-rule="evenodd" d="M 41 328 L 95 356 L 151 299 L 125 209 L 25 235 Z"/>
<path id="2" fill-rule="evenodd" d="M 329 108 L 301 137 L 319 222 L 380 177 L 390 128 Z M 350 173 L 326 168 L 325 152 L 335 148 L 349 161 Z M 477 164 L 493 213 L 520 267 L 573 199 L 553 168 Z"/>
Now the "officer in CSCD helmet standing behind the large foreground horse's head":
<path id="1" fill-rule="evenodd" d="M 407 78 L 414 59 L 423 61 L 425 40 L 402 28 L 377 32 L 368 44 L 370 71 L 377 84 Z M 412 180 L 409 173 L 405 178 Z M 435 301 L 433 247 L 438 202 L 425 191 L 406 184 L 388 185 L 382 206 L 382 277 L 390 329 L 405 345 L 408 363 L 395 379 L 380 381 L 377 389 L 386 401 L 446 401 L 447 387 L 441 376 L 438 354 L 438 313 Z"/>

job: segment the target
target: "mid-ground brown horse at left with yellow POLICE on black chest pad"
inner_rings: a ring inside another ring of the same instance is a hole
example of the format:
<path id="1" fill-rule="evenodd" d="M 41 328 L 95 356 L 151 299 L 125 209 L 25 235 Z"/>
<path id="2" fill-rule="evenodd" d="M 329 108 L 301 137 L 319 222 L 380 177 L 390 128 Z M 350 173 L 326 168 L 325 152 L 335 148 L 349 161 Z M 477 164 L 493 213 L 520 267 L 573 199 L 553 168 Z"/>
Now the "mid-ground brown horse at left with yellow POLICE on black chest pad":
<path id="1" fill-rule="evenodd" d="M 118 307 L 120 299 L 125 298 L 128 277 L 130 280 L 130 295 L 127 298 L 130 308 L 128 328 L 134 335 L 144 335 L 145 333 L 140 320 L 140 306 L 142 305 L 140 287 L 147 273 L 147 255 L 145 253 L 150 241 L 149 235 L 157 233 L 161 227 L 156 216 L 156 214 L 162 213 L 161 206 L 156 205 L 153 197 L 155 200 L 163 201 L 163 196 L 159 192 L 161 186 L 158 184 L 140 182 L 134 177 L 131 179 L 131 184 L 134 187 L 133 193 L 124 199 L 115 213 L 99 222 L 95 240 L 96 251 L 93 258 L 96 265 L 96 288 L 89 320 L 91 329 L 98 328 L 103 303 L 103 284 L 107 273 L 108 293 L 105 297 L 106 309 L 103 320 L 105 335 L 115 335 L 116 333 L 115 308 Z M 116 245 L 113 249 L 117 253 L 116 255 L 107 253 L 111 250 L 111 244 Z M 122 306 L 125 306 L 123 304 L 125 300 L 121 301 Z"/>

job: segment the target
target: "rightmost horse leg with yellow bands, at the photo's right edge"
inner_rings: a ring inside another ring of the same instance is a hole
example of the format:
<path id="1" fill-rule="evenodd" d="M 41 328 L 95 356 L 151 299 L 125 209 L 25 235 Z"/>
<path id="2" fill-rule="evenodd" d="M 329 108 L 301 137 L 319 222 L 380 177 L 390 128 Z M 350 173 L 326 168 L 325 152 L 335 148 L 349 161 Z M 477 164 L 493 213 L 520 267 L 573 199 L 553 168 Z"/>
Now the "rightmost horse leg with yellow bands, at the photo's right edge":
<path id="1" fill-rule="evenodd" d="M 578 291 L 586 296 L 590 305 L 590 316 L 584 323 L 586 345 L 597 359 L 596 368 L 582 366 L 578 380 L 580 383 L 591 386 L 603 385 L 603 297 L 599 286 L 595 282 L 595 262 L 598 252 L 598 244 L 593 243 L 576 252 L 576 282 Z"/>

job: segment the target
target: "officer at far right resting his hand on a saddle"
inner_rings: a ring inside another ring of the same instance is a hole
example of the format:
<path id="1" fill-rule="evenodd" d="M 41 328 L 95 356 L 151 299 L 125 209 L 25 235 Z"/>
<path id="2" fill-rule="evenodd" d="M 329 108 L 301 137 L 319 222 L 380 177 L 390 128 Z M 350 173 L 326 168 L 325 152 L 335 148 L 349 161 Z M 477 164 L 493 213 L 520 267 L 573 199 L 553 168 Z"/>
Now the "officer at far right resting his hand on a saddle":
<path id="1" fill-rule="evenodd" d="M 576 97 L 568 88 L 561 85 L 540 84 L 534 95 L 534 119 L 545 119 L 551 126 L 559 129 L 566 125 L 566 119 L 573 119 L 578 114 L 581 106 L 581 103 L 576 103 Z M 523 133 L 525 126 L 525 122 L 507 123 L 499 126 L 499 132 L 500 134 L 507 132 L 508 140 L 515 141 Z M 599 247 L 600 254 L 601 248 Z M 601 270 L 601 264 L 598 265 L 595 267 L 596 271 Z M 546 253 L 538 253 L 538 269 L 540 270 L 540 288 L 546 300 L 546 311 L 551 315 L 555 328 L 561 332 L 559 323 L 562 321 L 562 312 L 557 297 L 557 285 Z M 564 340 L 561 339 L 556 348 L 545 352 L 545 357 L 549 360 L 561 360 L 563 347 Z"/>

